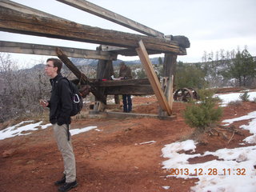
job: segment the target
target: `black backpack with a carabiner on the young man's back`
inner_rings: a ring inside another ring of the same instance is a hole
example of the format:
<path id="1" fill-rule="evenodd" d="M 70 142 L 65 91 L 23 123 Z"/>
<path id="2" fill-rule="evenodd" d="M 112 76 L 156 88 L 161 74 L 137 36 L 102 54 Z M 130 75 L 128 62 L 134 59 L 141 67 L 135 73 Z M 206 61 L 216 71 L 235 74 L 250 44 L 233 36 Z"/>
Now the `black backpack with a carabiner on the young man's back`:
<path id="1" fill-rule="evenodd" d="M 67 82 L 70 83 L 71 99 L 72 99 L 72 111 L 70 113 L 70 116 L 74 116 L 82 110 L 82 106 L 83 106 L 82 96 L 78 90 L 78 87 L 74 85 L 73 82 L 70 82 L 70 80 L 66 77 L 62 77 L 60 80 L 62 79 L 66 79 Z"/>

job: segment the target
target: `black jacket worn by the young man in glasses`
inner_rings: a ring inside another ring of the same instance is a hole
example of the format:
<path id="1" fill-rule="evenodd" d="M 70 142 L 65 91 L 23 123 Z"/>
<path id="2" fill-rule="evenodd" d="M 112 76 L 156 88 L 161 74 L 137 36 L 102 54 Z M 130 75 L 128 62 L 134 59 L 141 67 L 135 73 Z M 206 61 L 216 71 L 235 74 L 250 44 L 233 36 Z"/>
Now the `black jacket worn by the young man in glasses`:
<path id="1" fill-rule="evenodd" d="M 62 74 L 58 74 L 55 78 L 50 79 L 52 86 L 49 101 L 50 107 L 50 123 L 58 123 L 69 125 L 71 123 L 70 112 L 72 110 L 70 84 L 62 78 Z"/>

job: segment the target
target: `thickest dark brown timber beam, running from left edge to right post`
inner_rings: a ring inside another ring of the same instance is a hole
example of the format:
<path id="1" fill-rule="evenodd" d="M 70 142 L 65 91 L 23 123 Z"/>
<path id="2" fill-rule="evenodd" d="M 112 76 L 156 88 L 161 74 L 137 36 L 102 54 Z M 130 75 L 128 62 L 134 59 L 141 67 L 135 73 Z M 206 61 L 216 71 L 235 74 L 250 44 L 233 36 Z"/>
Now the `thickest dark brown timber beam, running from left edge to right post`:
<path id="1" fill-rule="evenodd" d="M 103 30 L 58 18 L 41 17 L 6 7 L 2 2 L 0 2 L 0 30 L 127 48 L 136 48 L 138 41 L 142 40 L 148 50 L 186 54 L 184 50 L 180 49 L 177 42 L 170 40 L 115 30 Z"/>

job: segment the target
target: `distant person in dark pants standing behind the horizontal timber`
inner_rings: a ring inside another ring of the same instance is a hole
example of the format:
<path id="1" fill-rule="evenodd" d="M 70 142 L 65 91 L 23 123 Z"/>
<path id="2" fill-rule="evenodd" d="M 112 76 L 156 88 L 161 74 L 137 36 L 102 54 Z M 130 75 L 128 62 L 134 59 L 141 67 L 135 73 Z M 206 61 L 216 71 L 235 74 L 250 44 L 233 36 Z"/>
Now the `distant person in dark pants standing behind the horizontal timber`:
<path id="1" fill-rule="evenodd" d="M 120 62 L 119 78 L 121 79 L 132 78 L 130 67 L 126 66 L 125 62 Z M 122 95 L 122 104 L 123 104 L 123 112 L 130 113 L 130 111 L 132 110 L 132 101 L 130 98 L 130 94 Z"/>

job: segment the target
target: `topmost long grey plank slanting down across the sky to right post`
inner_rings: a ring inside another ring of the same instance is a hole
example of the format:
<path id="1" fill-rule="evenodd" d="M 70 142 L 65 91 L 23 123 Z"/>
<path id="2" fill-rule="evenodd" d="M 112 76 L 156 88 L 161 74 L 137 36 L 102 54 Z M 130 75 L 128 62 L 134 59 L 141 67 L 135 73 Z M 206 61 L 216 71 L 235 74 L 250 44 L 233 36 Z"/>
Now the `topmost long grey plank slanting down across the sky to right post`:
<path id="1" fill-rule="evenodd" d="M 85 0 L 57 0 L 58 2 L 66 3 L 67 5 L 74 6 L 79 10 L 84 10 L 90 14 L 95 14 L 100 18 L 105 18 L 111 22 L 118 23 L 121 26 L 126 26 L 131 30 L 136 30 L 142 34 L 150 35 L 153 37 L 164 38 L 164 34 L 157 30 L 153 30 L 148 26 L 144 26 L 138 22 L 134 22 L 130 18 L 123 17 L 120 14 L 116 14 L 110 10 L 106 10 L 101 6 L 97 6 L 91 2 Z"/>

